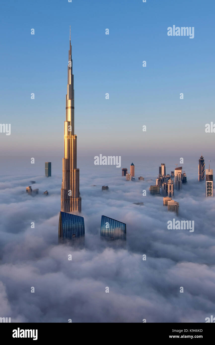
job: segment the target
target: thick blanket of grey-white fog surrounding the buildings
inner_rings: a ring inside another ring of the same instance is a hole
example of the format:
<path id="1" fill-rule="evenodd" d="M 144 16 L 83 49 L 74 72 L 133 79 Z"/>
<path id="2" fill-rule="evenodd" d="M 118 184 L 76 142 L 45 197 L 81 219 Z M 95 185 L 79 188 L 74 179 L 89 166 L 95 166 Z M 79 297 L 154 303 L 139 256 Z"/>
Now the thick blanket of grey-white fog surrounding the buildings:
<path id="1" fill-rule="evenodd" d="M 177 217 L 161 196 L 149 195 L 158 167 L 153 176 L 141 174 L 145 181 L 140 182 L 125 181 L 121 169 L 109 168 L 94 167 L 92 174 L 82 170 L 86 235 L 81 250 L 58 245 L 60 175 L 1 178 L 1 317 L 11 322 L 201 323 L 215 316 L 215 201 L 205 198 L 204 182 L 186 171 L 187 185 L 175 192 Z M 108 191 L 101 191 L 104 184 Z M 27 195 L 28 185 L 40 194 Z M 144 206 L 133 204 L 138 201 Z M 100 241 L 102 214 L 126 223 L 126 248 Z M 173 218 L 194 220 L 194 232 L 168 230 Z"/>

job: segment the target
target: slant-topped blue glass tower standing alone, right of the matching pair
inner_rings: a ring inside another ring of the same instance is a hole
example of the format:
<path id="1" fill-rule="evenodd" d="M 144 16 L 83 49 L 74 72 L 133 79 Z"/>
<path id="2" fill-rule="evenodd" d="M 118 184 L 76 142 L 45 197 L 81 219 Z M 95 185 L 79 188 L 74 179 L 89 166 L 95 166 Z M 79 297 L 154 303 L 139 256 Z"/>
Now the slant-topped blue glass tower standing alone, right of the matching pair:
<path id="1" fill-rule="evenodd" d="M 107 240 L 126 240 L 126 224 L 116 219 L 101 216 L 101 238 Z"/>

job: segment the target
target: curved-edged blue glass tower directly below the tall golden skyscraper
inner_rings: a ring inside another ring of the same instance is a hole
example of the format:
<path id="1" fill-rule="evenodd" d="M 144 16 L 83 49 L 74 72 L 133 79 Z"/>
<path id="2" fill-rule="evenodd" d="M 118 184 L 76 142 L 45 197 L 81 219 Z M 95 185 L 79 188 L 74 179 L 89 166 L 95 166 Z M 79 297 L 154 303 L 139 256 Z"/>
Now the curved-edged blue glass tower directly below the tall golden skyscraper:
<path id="1" fill-rule="evenodd" d="M 84 218 L 67 212 L 60 212 L 59 242 L 83 240 L 85 236 Z"/>

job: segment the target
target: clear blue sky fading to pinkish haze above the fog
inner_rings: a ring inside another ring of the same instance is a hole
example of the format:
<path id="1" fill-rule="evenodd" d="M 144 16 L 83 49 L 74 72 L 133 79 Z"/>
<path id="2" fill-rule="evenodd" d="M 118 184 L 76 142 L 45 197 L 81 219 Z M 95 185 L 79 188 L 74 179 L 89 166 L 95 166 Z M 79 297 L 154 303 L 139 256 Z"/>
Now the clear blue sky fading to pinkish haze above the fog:
<path id="1" fill-rule="evenodd" d="M 78 154 L 213 159 L 214 9 L 198 0 L 1 3 L 0 122 L 11 123 L 1 155 L 63 156 L 71 25 Z M 173 25 L 194 27 L 194 39 L 168 37 Z"/>

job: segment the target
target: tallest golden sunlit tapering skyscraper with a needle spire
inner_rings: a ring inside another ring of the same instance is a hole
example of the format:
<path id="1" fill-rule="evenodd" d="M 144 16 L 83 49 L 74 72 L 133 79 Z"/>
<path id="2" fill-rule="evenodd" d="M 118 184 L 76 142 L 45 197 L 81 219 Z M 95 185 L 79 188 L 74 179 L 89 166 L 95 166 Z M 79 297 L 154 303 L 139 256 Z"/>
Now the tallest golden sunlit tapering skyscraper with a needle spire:
<path id="1" fill-rule="evenodd" d="M 64 158 L 62 159 L 61 211 L 81 212 L 77 135 L 74 134 L 74 75 L 72 74 L 71 34 L 69 41 L 66 121 L 64 121 Z"/>

